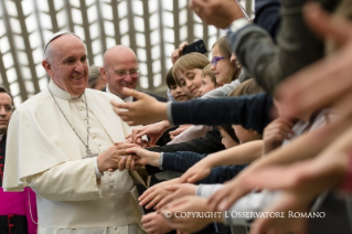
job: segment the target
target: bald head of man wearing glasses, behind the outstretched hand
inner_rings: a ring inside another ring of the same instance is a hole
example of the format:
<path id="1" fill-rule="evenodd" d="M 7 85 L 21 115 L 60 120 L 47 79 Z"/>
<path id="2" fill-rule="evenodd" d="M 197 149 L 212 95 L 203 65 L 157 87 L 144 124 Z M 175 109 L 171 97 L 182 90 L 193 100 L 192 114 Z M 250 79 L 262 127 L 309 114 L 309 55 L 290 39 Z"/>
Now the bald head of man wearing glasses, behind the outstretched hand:
<path id="1" fill-rule="evenodd" d="M 126 74 L 118 75 L 121 72 L 130 72 L 138 70 L 138 62 L 135 52 L 124 45 L 110 47 L 104 54 L 104 67 L 100 68 L 103 77 L 107 81 L 109 91 L 125 99 L 127 96 L 122 94 L 122 88 L 128 87 L 135 89 L 137 87 L 138 75 Z"/>

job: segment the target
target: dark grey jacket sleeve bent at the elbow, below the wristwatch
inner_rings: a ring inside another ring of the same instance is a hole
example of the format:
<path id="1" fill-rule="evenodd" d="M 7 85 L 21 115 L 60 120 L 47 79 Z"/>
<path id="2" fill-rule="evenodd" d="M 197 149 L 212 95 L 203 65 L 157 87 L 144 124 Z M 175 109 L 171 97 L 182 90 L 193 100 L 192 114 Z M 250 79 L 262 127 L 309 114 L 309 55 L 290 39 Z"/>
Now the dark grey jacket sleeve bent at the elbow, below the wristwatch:
<path id="1" fill-rule="evenodd" d="M 308 28 L 302 17 L 306 2 L 282 2 L 277 45 L 256 25 L 246 26 L 232 39 L 232 49 L 241 64 L 271 94 L 279 82 L 323 56 L 322 40 Z"/>

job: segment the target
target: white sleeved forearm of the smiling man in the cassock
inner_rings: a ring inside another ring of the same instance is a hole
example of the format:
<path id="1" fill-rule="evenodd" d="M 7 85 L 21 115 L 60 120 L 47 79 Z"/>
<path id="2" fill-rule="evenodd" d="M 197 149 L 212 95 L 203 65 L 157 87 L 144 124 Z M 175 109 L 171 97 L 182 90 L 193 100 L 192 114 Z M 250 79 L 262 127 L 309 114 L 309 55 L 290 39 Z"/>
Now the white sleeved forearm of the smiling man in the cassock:
<path id="1" fill-rule="evenodd" d="M 94 159 L 66 161 L 25 178 L 35 193 L 54 201 L 86 201 L 102 196 Z"/>

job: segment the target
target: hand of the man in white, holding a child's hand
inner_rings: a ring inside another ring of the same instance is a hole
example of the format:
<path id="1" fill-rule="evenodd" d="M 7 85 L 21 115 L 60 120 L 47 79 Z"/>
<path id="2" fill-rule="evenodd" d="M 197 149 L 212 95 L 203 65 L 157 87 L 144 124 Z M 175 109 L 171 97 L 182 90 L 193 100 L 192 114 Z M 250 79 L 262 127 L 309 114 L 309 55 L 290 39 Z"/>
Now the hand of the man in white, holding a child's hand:
<path id="1" fill-rule="evenodd" d="M 102 155 L 97 157 L 98 170 L 102 172 L 107 170 L 115 170 L 118 168 L 119 170 L 125 169 L 126 158 L 126 149 L 130 147 L 135 147 L 135 143 L 115 143 L 114 147 L 108 148 Z M 128 161 L 130 164 L 131 161 Z"/>

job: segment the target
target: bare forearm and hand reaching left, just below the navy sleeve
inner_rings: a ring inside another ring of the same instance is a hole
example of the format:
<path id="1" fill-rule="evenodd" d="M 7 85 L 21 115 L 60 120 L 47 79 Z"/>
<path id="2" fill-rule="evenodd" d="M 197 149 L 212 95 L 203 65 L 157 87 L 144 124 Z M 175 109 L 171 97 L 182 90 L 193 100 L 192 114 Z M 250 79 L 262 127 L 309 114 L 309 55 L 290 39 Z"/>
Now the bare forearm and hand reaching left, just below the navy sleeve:
<path id="1" fill-rule="evenodd" d="M 180 177 L 180 183 L 194 183 L 202 180 L 215 167 L 250 163 L 260 157 L 262 148 L 263 140 L 255 140 L 206 156 Z"/>

